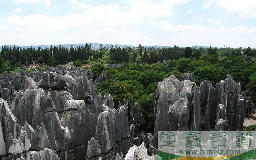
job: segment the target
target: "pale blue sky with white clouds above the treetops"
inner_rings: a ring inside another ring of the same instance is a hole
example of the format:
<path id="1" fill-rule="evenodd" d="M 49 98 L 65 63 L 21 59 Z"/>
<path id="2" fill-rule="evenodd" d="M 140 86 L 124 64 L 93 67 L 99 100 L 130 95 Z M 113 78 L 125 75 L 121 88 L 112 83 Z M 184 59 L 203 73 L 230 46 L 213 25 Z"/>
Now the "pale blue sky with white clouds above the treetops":
<path id="1" fill-rule="evenodd" d="M 0 45 L 256 48 L 256 0 L 0 0 Z"/>

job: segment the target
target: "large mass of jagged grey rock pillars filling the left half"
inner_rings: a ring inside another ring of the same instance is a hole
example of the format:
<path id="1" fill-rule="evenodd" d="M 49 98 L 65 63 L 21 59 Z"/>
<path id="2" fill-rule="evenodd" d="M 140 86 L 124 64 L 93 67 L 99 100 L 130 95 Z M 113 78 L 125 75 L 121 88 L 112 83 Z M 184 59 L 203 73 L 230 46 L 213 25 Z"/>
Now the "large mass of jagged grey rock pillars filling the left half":
<path id="1" fill-rule="evenodd" d="M 127 109 L 115 109 L 111 95 L 102 99 L 92 73 L 76 69 L 0 77 L 1 159 L 123 159 L 131 146 Z"/>

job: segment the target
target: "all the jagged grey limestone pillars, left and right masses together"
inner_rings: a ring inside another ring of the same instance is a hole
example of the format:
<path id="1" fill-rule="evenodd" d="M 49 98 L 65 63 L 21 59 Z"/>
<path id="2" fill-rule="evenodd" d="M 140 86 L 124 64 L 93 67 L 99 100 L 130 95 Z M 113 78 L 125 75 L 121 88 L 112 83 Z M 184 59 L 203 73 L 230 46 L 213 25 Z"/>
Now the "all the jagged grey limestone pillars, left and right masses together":
<path id="1" fill-rule="evenodd" d="M 158 160 L 157 131 L 243 130 L 246 98 L 230 74 L 216 85 L 193 74 L 158 82 L 151 133 L 136 103 L 95 91 L 105 79 L 72 62 L 0 76 L 0 159 Z"/>

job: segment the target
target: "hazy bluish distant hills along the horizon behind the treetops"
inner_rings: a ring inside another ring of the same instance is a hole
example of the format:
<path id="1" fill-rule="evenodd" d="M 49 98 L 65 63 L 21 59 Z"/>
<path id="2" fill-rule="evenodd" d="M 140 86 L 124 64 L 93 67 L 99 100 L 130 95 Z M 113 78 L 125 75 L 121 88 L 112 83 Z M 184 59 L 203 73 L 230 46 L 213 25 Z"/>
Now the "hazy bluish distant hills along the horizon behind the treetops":
<path id="1" fill-rule="evenodd" d="M 88 43 L 89 44 L 89 43 Z M 84 44 L 61 44 L 63 47 L 67 47 L 67 48 L 70 48 L 71 45 L 73 45 L 74 48 L 77 48 L 77 46 L 85 46 L 85 43 Z M 100 48 L 100 45 L 102 45 L 102 47 L 104 46 L 112 46 L 112 44 L 100 44 L 100 43 L 91 43 L 91 48 L 92 49 L 99 49 Z M 8 47 L 11 47 L 13 48 L 14 46 L 16 47 L 21 47 L 22 49 L 23 48 L 30 48 L 31 46 L 19 46 L 19 45 L 7 45 Z M 38 47 L 41 47 L 41 49 L 45 49 L 45 48 L 50 48 L 51 45 L 32 45 L 32 48 L 38 48 Z M 56 45 L 56 46 L 59 46 L 59 45 Z M 120 45 L 120 44 L 116 44 L 117 47 L 120 47 L 120 48 L 123 48 L 123 47 L 134 47 L 133 45 Z M 169 48 L 170 46 L 158 46 L 158 45 L 151 45 L 151 46 L 144 46 L 144 47 L 153 47 L 153 48 Z M 192 46 L 191 48 L 208 48 L 208 47 L 205 47 L 205 46 Z M 2 47 L 0 47 L 0 51 L 2 50 Z"/>

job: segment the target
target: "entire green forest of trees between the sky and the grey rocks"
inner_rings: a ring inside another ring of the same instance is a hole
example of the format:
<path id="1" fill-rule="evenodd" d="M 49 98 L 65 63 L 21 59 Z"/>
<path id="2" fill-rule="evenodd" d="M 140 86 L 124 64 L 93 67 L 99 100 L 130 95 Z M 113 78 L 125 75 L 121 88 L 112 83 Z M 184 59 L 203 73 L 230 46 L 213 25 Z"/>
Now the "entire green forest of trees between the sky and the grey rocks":
<path id="1" fill-rule="evenodd" d="M 251 60 L 244 59 L 251 56 Z M 92 50 L 90 45 L 77 48 L 52 47 L 50 49 L 21 49 L 2 47 L 0 54 L 0 73 L 13 71 L 20 64 L 31 62 L 49 65 L 64 64 L 73 61 L 76 66 L 93 64 L 90 70 L 94 78 L 107 71 L 109 79 L 98 84 L 96 90 L 102 95 L 111 94 L 115 107 L 118 101 L 126 99 L 128 103 L 137 103 L 146 120 L 146 129 L 153 127 L 154 94 L 157 83 L 163 78 L 175 75 L 181 80 L 184 73 L 194 73 L 195 82 L 209 80 L 215 85 L 230 73 L 242 90 L 249 90 L 256 103 L 256 49 L 251 48 L 118 48 L 101 47 Z M 169 60 L 167 65 L 162 61 Z M 116 69 L 108 68 L 106 63 L 122 63 Z"/>

